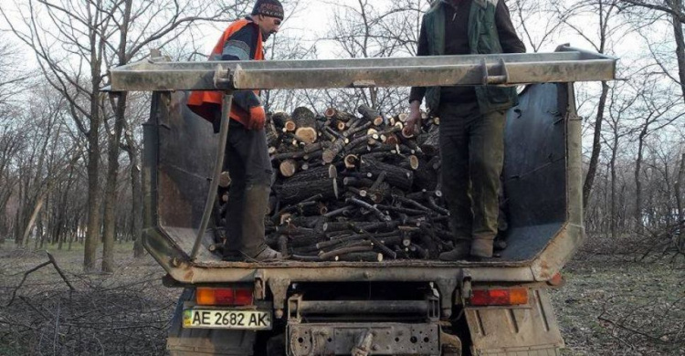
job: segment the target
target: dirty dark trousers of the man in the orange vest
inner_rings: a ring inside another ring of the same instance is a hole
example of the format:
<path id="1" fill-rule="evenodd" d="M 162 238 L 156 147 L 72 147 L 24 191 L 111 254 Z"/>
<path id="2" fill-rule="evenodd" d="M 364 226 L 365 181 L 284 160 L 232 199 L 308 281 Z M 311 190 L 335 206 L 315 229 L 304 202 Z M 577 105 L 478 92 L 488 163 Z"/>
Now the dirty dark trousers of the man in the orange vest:
<path id="1" fill-rule="evenodd" d="M 267 247 L 264 215 L 273 173 L 264 129 L 248 130 L 236 120 L 230 120 L 225 162 L 231 185 L 224 255 L 254 257 Z"/>

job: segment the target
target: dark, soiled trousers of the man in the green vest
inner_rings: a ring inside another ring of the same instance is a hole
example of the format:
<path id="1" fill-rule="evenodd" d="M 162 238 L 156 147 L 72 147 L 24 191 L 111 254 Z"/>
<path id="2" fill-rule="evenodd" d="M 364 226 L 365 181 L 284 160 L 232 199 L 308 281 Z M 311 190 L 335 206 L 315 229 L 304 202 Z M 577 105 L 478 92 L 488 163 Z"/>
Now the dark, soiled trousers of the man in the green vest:
<path id="1" fill-rule="evenodd" d="M 440 117 L 442 190 L 456 244 L 490 257 L 497 235 L 505 111 L 480 114 L 478 104 L 443 104 Z"/>

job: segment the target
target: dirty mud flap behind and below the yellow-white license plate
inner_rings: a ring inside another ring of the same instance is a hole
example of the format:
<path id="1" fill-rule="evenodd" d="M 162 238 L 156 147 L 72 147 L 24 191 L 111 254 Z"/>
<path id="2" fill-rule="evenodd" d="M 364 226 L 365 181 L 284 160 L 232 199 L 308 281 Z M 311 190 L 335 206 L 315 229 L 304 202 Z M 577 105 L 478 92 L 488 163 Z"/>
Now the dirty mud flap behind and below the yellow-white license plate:
<path id="1" fill-rule="evenodd" d="M 186 288 L 174 310 L 174 318 L 168 330 L 166 349 L 172 356 L 253 354 L 255 331 L 184 329 L 184 301 L 194 297 L 195 289 Z"/>

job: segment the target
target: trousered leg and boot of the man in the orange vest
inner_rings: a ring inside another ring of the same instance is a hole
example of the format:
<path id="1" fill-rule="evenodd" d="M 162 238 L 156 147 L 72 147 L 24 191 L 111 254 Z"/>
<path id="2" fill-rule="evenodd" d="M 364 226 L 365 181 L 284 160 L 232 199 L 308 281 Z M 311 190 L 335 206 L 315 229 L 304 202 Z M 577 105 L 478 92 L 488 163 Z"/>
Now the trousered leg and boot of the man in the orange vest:
<path id="1" fill-rule="evenodd" d="M 266 245 L 264 235 L 264 215 L 269 204 L 271 183 L 271 162 L 267 151 L 267 137 L 264 130 L 246 129 L 237 121 L 231 121 L 227 142 L 228 171 L 243 173 L 241 210 L 234 212 L 239 225 L 237 252 L 242 256 L 255 259 L 279 257 L 279 254 Z M 231 187 L 233 190 L 233 187 Z M 229 196 L 229 199 L 231 197 Z M 229 212 L 230 214 L 230 212 Z M 227 216 L 227 220 L 234 218 Z M 232 226 L 230 223 L 229 226 Z"/>

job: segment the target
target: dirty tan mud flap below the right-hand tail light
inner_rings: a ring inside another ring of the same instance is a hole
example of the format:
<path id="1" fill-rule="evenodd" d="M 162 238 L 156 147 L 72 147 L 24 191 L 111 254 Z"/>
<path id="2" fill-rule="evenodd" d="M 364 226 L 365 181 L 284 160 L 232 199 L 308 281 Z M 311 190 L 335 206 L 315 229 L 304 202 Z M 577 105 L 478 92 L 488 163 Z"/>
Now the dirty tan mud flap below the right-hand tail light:
<path id="1" fill-rule="evenodd" d="M 523 307 L 464 309 L 473 355 L 557 356 L 564 347 L 547 291 L 532 289 Z"/>

